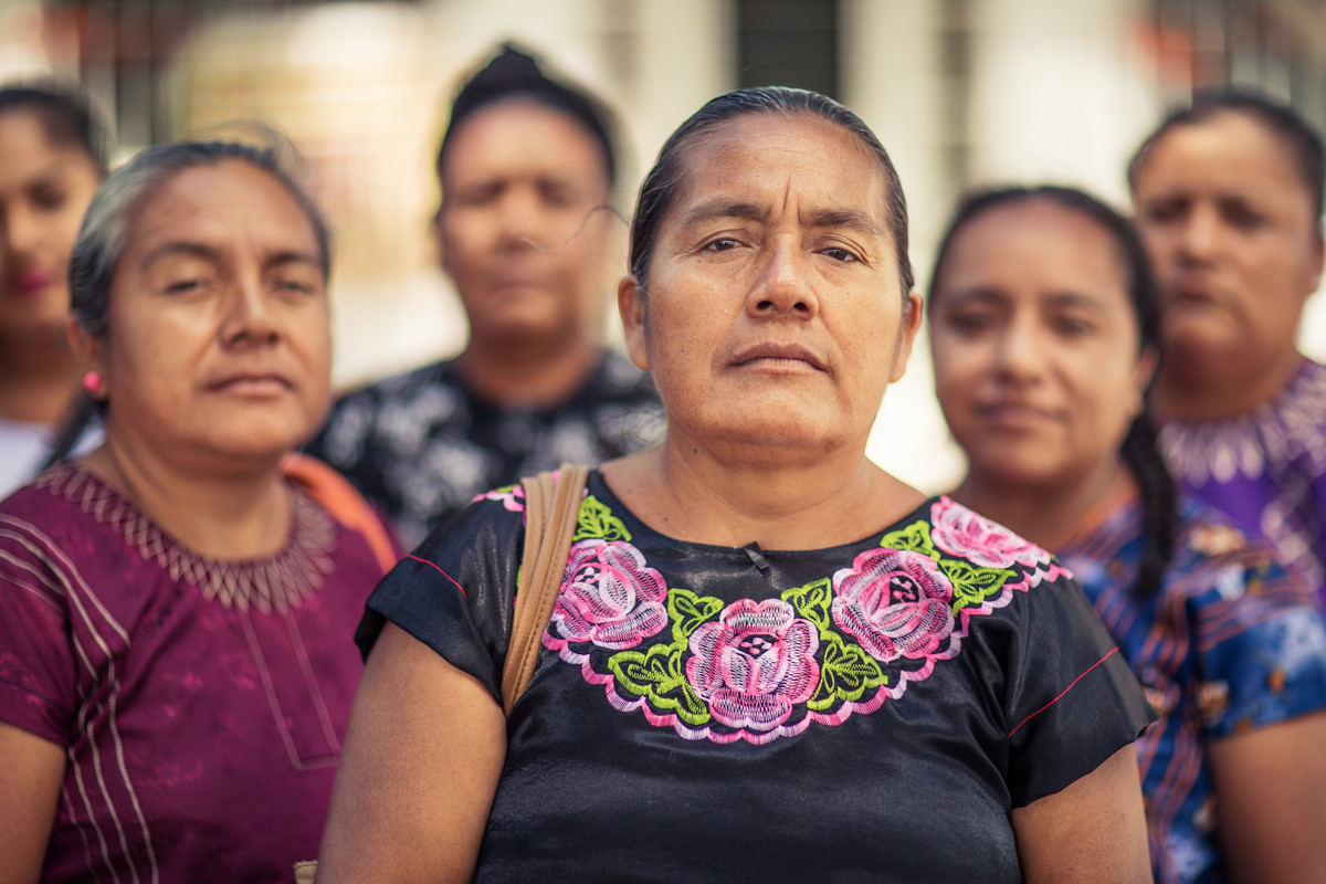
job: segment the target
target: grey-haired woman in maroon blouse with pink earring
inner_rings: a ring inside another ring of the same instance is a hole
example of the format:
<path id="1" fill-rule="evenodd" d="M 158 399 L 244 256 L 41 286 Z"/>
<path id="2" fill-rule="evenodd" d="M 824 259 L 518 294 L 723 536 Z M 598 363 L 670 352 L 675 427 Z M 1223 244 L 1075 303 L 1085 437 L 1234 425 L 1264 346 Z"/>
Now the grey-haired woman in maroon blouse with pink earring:
<path id="1" fill-rule="evenodd" d="M 84 220 L 105 445 L 0 504 L 5 881 L 278 881 L 317 848 L 391 543 L 290 457 L 329 404 L 329 250 L 278 155 L 156 147 Z"/>

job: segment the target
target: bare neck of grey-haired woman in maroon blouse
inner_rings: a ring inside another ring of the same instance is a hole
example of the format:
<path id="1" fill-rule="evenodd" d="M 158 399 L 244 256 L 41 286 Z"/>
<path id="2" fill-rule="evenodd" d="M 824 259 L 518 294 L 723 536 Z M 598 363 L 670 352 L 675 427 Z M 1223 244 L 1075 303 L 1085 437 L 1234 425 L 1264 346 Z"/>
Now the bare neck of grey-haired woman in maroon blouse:
<path id="1" fill-rule="evenodd" d="M 85 465 L 188 549 L 236 561 L 285 547 L 290 502 L 278 460 L 248 470 L 186 470 L 125 441 L 107 424 L 106 444 Z"/>

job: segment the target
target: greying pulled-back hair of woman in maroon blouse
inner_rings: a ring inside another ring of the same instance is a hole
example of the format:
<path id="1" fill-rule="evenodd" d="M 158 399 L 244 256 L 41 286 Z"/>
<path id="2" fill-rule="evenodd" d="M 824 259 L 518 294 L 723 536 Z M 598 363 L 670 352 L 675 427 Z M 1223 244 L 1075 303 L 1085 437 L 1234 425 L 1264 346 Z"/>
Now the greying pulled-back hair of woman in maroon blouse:
<path id="1" fill-rule="evenodd" d="M 110 317 L 110 284 L 119 266 L 139 207 L 180 172 L 240 160 L 278 180 L 304 209 L 318 243 L 324 278 L 332 269 L 332 237 L 322 213 L 289 170 L 284 140 L 265 147 L 236 142 L 182 142 L 149 147 L 117 168 L 91 197 L 69 257 L 69 309 L 78 326 L 103 335 Z"/>

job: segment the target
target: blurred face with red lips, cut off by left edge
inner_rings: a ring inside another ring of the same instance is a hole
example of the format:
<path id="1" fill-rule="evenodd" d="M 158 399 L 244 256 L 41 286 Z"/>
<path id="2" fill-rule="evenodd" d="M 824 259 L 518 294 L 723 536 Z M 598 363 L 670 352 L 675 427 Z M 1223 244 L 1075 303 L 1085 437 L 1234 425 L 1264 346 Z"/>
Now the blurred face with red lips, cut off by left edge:
<path id="1" fill-rule="evenodd" d="M 82 150 L 52 142 L 34 111 L 0 115 L 0 339 L 64 341 L 69 253 L 101 183 Z"/>

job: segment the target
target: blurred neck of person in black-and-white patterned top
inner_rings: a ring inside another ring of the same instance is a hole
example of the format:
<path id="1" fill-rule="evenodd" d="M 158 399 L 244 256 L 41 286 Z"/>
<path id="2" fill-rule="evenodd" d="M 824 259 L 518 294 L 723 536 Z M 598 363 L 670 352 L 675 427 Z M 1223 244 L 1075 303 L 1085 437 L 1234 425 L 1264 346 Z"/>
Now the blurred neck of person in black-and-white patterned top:
<path id="1" fill-rule="evenodd" d="M 601 347 L 587 341 L 493 347 L 471 341 L 456 367 L 472 394 L 497 406 L 556 406 L 598 367 Z"/>

